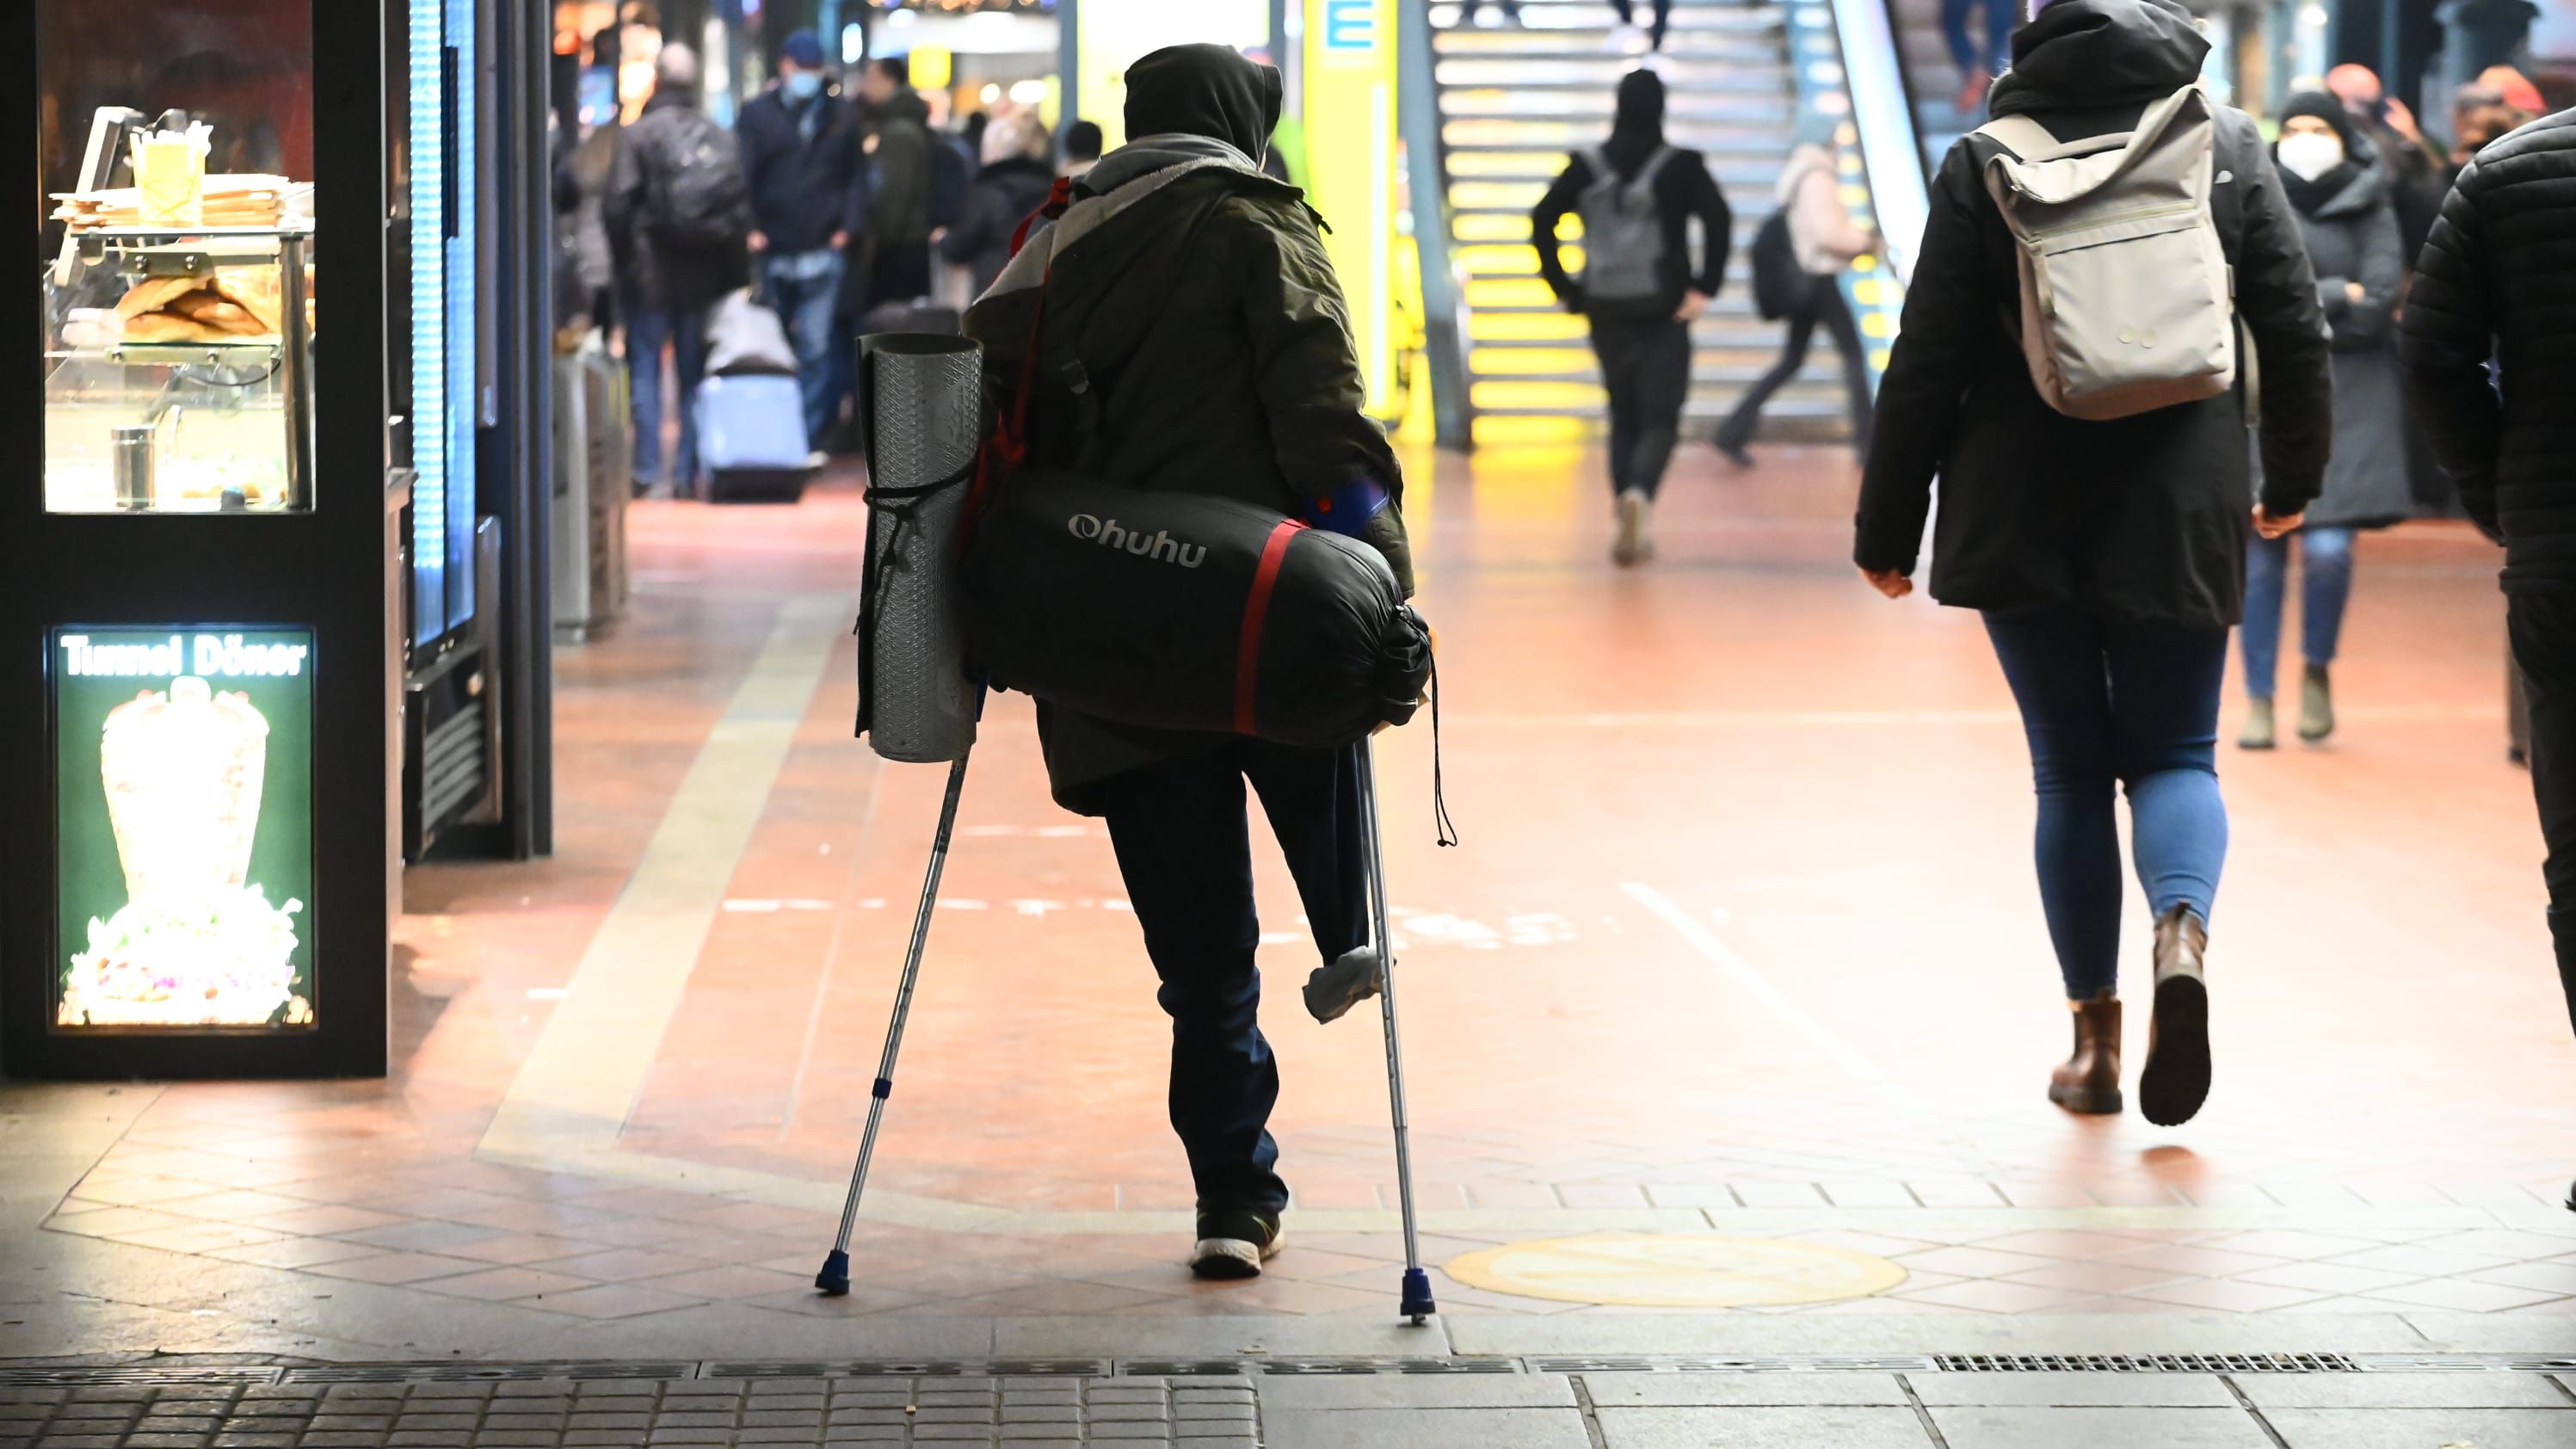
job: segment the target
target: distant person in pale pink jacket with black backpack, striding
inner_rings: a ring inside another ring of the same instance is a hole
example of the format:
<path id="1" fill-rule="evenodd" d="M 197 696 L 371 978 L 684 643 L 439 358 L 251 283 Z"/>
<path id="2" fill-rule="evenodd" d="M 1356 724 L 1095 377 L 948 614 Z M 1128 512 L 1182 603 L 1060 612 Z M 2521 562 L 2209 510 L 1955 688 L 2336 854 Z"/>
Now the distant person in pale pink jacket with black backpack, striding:
<path id="1" fill-rule="evenodd" d="M 1788 260 L 1798 273 L 1795 294 L 1780 317 L 1788 322 L 1788 338 L 1780 343 L 1780 361 L 1747 387 L 1736 410 L 1718 423 L 1718 451 L 1736 467 L 1754 467 L 1754 456 L 1744 446 L 1762 425 L 1762 405 L 1798 376 L 1798 369 L 1806 366 L 1808 338 L 1824 327 L 1834 338 L 1834 351 L 1842 353 L 1842 394 L 1852 410 L 1852 446 L 1860 449 L 1860 456 L 1870 456 L 1870 356 L 1860 345 L 1852 304 L 1842 299 L 1842 273 L 1852 268 L 1855 258 L 1875 250 L 1878 237 L 1855 224 L 1852 209 L 1842 204 L 1842 175 L 1834 170 L 1829 147 L 1808 142 L 1788 152 L 1775 196 L 1790 248 Z M 1754 258 L 1754 266 L 1762 266 L 1762 258 Z"/>

